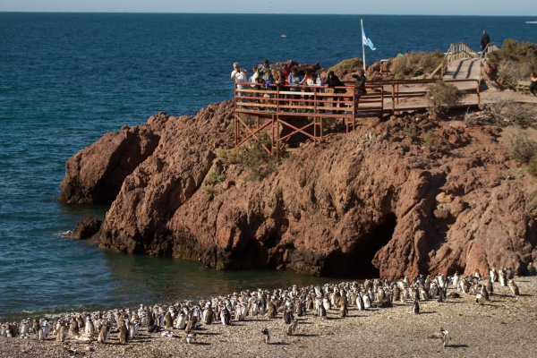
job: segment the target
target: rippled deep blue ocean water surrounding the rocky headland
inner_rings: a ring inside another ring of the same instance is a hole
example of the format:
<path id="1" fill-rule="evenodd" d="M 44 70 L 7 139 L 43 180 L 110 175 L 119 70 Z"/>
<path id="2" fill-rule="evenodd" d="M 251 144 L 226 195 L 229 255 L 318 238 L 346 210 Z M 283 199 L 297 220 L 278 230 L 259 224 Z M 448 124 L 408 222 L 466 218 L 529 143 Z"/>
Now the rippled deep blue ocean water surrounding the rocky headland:
<path id="1" fill-rule="evenodd" d="M 377 51 L 446 51 L 534 41 L 522 17 L 363 16 Z M 105 132 L 165 110 L 194 114 L 230 98 L 231 64 L 361 56 L 360 16 L 0 13 L 0 319 L 163 302 L 244 287 L 318 282 L 260 271 L 219 272 L 182 260 L 98 251 L 62 233 L 107 208 L 59 203 L 64 162 Z M 285 34 L 286 38 L 281 35 Z"/>

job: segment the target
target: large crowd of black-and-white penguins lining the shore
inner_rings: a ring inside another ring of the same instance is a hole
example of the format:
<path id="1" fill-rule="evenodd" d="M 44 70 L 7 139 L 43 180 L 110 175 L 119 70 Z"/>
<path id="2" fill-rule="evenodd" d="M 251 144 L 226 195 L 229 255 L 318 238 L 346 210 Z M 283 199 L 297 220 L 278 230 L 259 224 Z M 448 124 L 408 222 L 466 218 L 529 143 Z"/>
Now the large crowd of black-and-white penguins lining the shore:
<path id="1" fill-rule="evenodd" d="M 533 271 L 530 273 L 534 274 Z M 233 326 L 234 321 L 243 321 L 247 317 L 266 316 L 277 320 L 278 315 L 283 320 L 282 331 L 294 336 L 300 329 L 298 318 L 306 315 L 326 320 L 328 311 L 337 311 L 344 318 L 349 307 L 364 311 L 373 307 L 388 308 L 393 303 L 407 303 L 410 307 L 409 314 L 420 314 L 420 302 L 437 300 L 441 303 L 447 299 L 460 298 L 462 294 L 470 294 L 476 303 L 485 304 L 489 301 L 490 294 L 494 294 L 494 284 L 497 283 L 508 286 L 514 296 L 519 294 L 512 270 L 500 268 L 497 271 L 491 268 L 487 277 L 482 277 L 476 271 L 473 276 L 467 277 L 457 274 L 452 277 L 421 275 L 412 281 L 404 277 L 395 282 L 375 278 L 363 283 L 345 282 L 300 289 L 294 285 L 287 289 L 244 291 L 169 306 L 140 305 L 138 310 L 96 311 L 55 318 L 25 319 L 21 322 L 1 323 L 0 337 L 41 341 L 55 339 L 57 342 L 72 340 L 81 343 L 97 341 L 98 344 L 107 344 L 114 335 L 120 344 L 126 345 L 136 340 L 140 330 L 144 329 L 149 334 L 160 337 L 180 337 L 180 332 L 184 331 L 183 341 L 195 344 L 196 330 L 201 325 Z M 447 288 L 454 290 L 447 294 Z M 268 328 L 261 329 L 261 342 L 270 344 L 270 336 Z M 433 337 L 442 338 L 444 346 L 449 341 L 447 329 L 440 328 L 440 333 Z"/>

